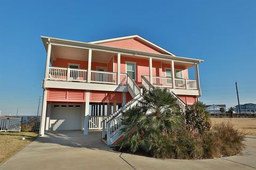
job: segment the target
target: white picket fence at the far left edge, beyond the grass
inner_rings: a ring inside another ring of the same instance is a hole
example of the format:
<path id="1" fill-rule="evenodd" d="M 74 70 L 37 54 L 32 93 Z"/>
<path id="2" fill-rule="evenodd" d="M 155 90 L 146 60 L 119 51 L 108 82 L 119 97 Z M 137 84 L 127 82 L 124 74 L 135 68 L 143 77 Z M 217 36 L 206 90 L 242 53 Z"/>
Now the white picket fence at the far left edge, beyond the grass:
<path id="1" fill-rule="evenodd" d="M 12 131 L 20 132 L 21 117 L 4 117 L 0 118 L 0 132 L 1 131 Z"/>

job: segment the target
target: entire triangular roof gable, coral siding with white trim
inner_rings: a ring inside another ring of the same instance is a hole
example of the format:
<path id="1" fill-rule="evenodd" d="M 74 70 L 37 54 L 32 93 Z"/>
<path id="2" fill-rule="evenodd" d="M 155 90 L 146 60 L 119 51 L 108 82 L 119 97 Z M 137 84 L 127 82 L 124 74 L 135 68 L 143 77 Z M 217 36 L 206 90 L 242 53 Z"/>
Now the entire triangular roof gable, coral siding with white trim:
<path id="1" fill-rule="evenodd" d="M 167 50 L 151 43 L 150 41 L 148 41 L 138 35 L 106 39 L 106 40 L 100 40 L 100 41 L 93 41 L 90 43 L 100 44 L 100 45 L 110 46 L 110 47 L 138 50 L 141 52 L 149 52 L 149 53 L 156 53 L 156 54 L 169 54 L 169 55 L 175 56 L 174 54 L 168 52 Z"/>

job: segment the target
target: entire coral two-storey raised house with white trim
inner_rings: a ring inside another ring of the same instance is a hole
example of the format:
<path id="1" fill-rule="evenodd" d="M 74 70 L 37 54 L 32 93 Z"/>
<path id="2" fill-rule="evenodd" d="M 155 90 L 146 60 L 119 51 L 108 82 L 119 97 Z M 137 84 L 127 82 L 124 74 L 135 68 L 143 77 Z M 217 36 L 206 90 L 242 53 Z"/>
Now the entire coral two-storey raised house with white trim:
<path id="1" fill-rule="evenodd" d="M 202 60 L 176 56 L 140 36 L 91 43 L 42 40 L 47 52 L 42 136 L 49 130 L 83 130 L 86 135 L 89 129 L 105 129 L 108 124 L 109 139 L 122 126 L 121 111 L 138 104 L 142 88 L 169 89 L 182 112 L 201 96 Z M 195 68 L 196 80 L 188 77 L 190 67 Z M 102 125 L 103 118 L 107 119 Z"/>

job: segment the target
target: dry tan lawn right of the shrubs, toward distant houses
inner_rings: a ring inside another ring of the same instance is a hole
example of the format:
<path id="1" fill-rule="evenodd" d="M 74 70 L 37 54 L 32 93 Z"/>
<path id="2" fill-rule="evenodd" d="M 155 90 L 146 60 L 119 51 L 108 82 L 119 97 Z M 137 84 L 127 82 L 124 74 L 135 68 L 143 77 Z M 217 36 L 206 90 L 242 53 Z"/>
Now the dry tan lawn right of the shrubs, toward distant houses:
<path id="1" fill-rule="evenodd" d="M 256 136 L 256 118 L 211 118 L 213 124 L 230 122 L 246 135 Z"/>

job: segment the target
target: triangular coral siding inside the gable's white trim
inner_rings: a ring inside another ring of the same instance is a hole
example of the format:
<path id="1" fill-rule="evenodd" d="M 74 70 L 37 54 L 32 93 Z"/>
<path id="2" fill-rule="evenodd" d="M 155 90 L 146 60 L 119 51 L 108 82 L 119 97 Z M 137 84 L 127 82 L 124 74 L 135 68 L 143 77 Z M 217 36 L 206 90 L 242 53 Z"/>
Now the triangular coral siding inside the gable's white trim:
<path id="1" fill-rule="evenodd" d="M 159 52 L 159 50 L 157 50 L 156 48 L 150 47 L 137 39 L 119 40 L 119 41 L 113 41 L 110 43 L 102 43 L 101 45 L 117 47 L 117 48 L 133 49 L 133 50 L 139 50 L 142 52 L 149 52 L 149 53 L 166 54 L 166 53 Z"/>

